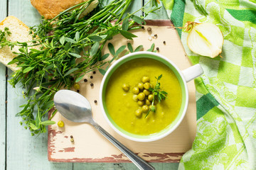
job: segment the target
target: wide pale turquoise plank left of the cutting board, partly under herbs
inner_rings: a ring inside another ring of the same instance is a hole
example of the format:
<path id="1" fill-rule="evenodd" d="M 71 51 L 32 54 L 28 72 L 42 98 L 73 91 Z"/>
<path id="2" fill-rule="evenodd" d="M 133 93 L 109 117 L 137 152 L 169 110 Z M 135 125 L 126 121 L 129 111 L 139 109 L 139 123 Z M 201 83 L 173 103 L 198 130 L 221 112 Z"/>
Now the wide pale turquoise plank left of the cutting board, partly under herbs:
<path id="1" fill-rule="evenodd" d="M 9 0 L 9 16 L 16 16 L 27 26 L 39 23 L 40 16 L 31 6 L 29 0 Z M 9 77 L 12 71 L 8 70 Z M 21 106 L 26 100 L 22 96 L 22 91 L 18 84 L 16 89 L 8 84 L 7 92 L 7 158 L 8 170 L 27 169 L 73 169 L 73 164 L 54 164 L 47 159 L 47 135 L 31 137 L 29 130 L 25 130 L 19 125 L 21 118 L 16 117 L 16 113 L 21 111 Z"/>

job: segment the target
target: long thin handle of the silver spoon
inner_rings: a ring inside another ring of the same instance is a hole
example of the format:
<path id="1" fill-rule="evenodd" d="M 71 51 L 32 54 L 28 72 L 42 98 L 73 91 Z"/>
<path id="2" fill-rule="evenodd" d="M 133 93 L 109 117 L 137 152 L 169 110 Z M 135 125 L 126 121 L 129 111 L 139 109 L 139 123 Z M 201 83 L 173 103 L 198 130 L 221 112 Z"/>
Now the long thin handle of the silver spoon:
<path id="1" fill-rule="evenodd" d="M 117 147 L 120 151 L 122 151 L 131 161 L 141 170 L 151 170 L 154 169 L 151 164 L 144 161 L 141 157 L 137 156 L 137 154 L 134 154 L 130 149 L 122 145 L 119 141 L 117 141 L 112 135 L 110 135 L 106 130 L 104 130 L 100 125 L 93 125 L 103 136 L 107 138 L 107 140 L 110 140 L 112 144 Z"/>

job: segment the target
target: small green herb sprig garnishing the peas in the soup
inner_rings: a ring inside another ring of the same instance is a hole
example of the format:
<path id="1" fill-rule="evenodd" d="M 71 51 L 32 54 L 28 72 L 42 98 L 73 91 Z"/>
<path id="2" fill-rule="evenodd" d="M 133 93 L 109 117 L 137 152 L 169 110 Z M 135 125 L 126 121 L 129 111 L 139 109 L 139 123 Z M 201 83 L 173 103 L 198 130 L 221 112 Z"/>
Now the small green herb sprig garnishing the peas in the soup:
<path id="1" fill-rule="evenodd" d="M 165 100 L 167 97 L 167 92 L 160 89 L 159 80 L 161 79 L 161 77 L 162 77 L 162 74 L 159 77 L 155 77 L 156 78 L 156 86 L 154 86 L 154 89 L 149 88 L 149 91 L 152 91 L 152 94 L 153 94 L 153 101 L 151 103 L 151 107 L 149 108 L 148 113 L 146 113 L 146 116 L 149 115 L 150 112 L 156 113 L 156 106 L 154 105 L 155 101 L 158 101 L 160 103 L 161 100 Z M 146 116 L 145 116 L 145 118 L 146 118 Z"/>

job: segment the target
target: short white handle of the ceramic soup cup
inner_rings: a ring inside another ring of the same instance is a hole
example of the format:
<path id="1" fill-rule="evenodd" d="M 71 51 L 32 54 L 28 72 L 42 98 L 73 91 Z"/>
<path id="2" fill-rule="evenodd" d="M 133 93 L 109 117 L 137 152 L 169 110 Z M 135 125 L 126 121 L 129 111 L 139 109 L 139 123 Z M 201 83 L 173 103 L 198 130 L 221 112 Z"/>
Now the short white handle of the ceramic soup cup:
<path id="1" fill-rule="evenodd" d="M 188 69 L 185 69 L 182 71 L 183 76 L 185 77 L 186 81 L 191 81 L 193 79 L 196 79 L 196 77 L 199 77 L 201 74 L 203 74 L 203 68 L 200 64 L 193 65 L 192 67 L 188 67 Z"/>

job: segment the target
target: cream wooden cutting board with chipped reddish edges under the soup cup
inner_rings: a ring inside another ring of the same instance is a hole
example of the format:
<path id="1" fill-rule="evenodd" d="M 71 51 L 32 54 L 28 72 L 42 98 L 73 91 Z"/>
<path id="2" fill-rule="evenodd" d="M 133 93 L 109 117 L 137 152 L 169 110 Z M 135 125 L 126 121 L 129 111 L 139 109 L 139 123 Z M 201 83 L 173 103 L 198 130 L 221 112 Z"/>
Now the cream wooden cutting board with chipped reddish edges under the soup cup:
<path id="1" fill-rule="evenodd" d="M 122 45 L 127 45 L 127 42 L 130 42 L 134 49 L 143 45 L 144 50 L 148 50 L 154 43 L 155 49 L 159 47 L 158 52 L 172 60 L 181 70 L 191 66 L 178 33 L 171 27 L 170 21 L 147 21 L 146 23 L 144 30 L 140 29 L 133 32 L 138 37 L 132 41 L 121 35 L 110 40 L 116 48 L 115 50 Z M 151 28 L 151 33 L 147 31 L 147 28 Z M 151 34 L 156 34 L 157 38 L 149 38 Z M 107 47 L 103 51 L 107 53 Z M 114 132 L 103 117 L 100 105 L 94 102 L 95 100 L 98 101 L 99 98 L 102 77 L 102 74 L 96 70 L 96 74 L 90 72 L 84 77 L 87 82 L 80 81 L 79 83 L 80 94 L 90 101 L 95 121 L 119 142 L 122 142 L 148 162 L 179 162 L 183 153 L 191 148 L 196 135 L 196 89 L 193 81 L 188 83 L 188 110 L 181 125 L 161 140 L 134 142 Z M 94 86 L 91 87 L 91 83 Z M 55 122 L 63 120 L 65 126 L 59 128 L 55 124 L 48 127 L 48 160 L 50 162 L 129 162 L 129 159 L 105 139 L 100 132 L 97 132 L 92 125 L 70 122 L 63 118 L 60 113 L 56 113 L 53 120 Z M 75 142 L 70 142 L 70 135 L 73 135 Z"/>

